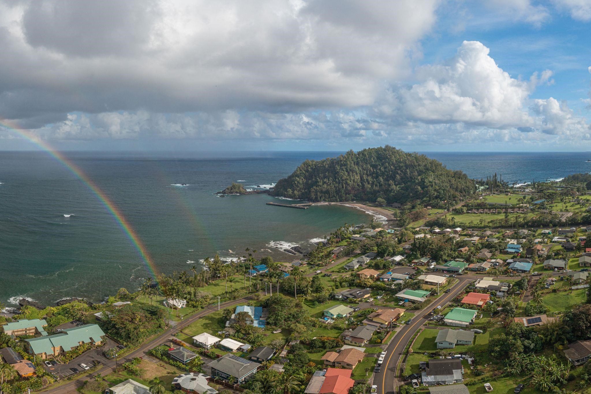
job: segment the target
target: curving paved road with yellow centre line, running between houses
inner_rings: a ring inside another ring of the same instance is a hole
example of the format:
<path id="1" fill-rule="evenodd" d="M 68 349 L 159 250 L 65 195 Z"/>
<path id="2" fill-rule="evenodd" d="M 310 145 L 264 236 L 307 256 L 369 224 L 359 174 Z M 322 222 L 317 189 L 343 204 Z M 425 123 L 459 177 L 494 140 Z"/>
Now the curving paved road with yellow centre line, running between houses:
<path id="1" fill-rule="evenodd" d="M 418 311 L 418 313 L 413 318 L 413 323 L 403 325 L 400 328 L 400 331 L 398 331 L 394 338 L 392 338 L 388 344 L 388 347 L 386 348 L 388 353 L 386 354 L 386 359 L 382 364 L 382 370 L 381 372 L 374 374 L 374 385 L 378 386 L 378 393 L 389 394 L 397 392 L 397 387 L 400 386 L 401 382 L 398 382 L 397 380 L 396 366 L 398 365 L 398 362 L 402 357 L 402 353 L 404 353 L 404 349 L 410 342 L 414 333 L 416 333 L 421 325 L 425 323 L 426 319 L 423 318 L 424 315 L 428 314 L 428 312 L 437 306 L 443 307 L 443 305 L 447 304 L 447 302 L 456 297 L 456 295 L 462 292 L 463 289 L 465 289 L 466 286 L 471 281 L 473 281 L 472 276 L 463 276 L 457 279 L 459 279 L 459 281 L 457 284 L 452 286 L 452 291 L 441 294 L 440 297 L 431 302 L 428 307 Z"/>

